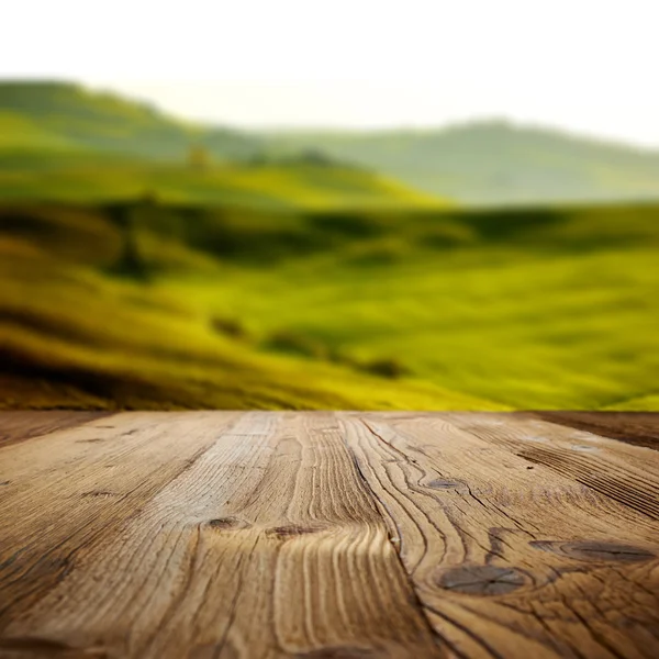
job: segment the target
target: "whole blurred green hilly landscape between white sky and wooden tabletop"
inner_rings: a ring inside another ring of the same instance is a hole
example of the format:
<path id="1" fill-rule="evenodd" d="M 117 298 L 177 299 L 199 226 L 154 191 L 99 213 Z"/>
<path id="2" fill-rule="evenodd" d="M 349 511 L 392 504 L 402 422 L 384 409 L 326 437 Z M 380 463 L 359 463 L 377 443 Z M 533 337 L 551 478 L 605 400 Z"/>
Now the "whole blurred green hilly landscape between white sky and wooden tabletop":
<path id="1" fill-rule="evenodd" d="M 656 410 L 659 153 L 0 82 L 0 406 Z"/>

